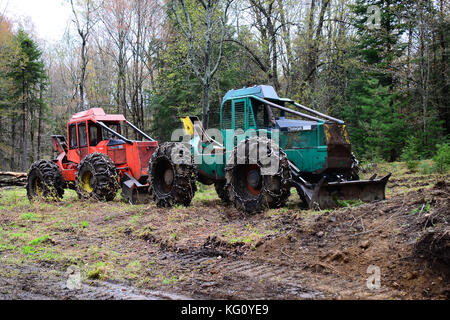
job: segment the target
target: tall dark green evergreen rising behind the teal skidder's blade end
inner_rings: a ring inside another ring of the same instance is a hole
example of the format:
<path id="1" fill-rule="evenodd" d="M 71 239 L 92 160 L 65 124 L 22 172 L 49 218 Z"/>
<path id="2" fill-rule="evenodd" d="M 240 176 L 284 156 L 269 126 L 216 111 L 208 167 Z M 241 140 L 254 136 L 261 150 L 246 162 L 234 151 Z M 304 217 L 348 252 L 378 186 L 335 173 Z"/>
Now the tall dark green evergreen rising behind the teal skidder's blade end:
<path id="1" fill-rule="evenodd" d="M 401 153 L 402 137 L 408 135 L 406 116 L 402 114 L 406 101 L 396 92 L 397 79 L 392 72 L 393 62 L 405 48 L 401 41 L 405 2 L 357 0 L 352 6 L 357 30 L 353 55 L 360 63 L 348 75 L 349 105 L 342 112 L 350 122 L 350 136 L 359 156 L 393 161 Z M 374 21 L 378 24 L 370 21 L 370 6 L 379 9 L 380 19 Z"/>

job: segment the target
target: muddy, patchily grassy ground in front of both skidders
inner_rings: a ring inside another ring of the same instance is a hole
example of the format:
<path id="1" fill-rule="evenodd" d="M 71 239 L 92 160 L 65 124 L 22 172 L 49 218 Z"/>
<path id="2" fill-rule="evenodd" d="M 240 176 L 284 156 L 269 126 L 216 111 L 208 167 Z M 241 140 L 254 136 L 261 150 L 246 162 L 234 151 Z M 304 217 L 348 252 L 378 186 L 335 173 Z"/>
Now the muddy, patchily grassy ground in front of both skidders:
<path id="1" fill-rule="evenodd" d="M 204 186 L 172 209 L 1 190 L 0 299 L 448 299 L 449 175 L 369 171 L 394 171 L 385 201 L 254 216 Z"/>

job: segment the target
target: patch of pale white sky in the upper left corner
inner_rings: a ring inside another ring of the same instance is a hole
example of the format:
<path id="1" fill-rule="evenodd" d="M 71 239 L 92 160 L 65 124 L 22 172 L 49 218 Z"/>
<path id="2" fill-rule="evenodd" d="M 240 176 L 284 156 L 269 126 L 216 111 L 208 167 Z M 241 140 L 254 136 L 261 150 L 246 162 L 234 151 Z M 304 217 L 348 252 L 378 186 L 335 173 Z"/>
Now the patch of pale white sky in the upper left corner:
<path id="1" fill-rule="evenodd" d="M 0 10 L 10 19 L 30 18 L 39 38 L 61 40 L 72 19 L 67 0 L 0 0 Z"/>

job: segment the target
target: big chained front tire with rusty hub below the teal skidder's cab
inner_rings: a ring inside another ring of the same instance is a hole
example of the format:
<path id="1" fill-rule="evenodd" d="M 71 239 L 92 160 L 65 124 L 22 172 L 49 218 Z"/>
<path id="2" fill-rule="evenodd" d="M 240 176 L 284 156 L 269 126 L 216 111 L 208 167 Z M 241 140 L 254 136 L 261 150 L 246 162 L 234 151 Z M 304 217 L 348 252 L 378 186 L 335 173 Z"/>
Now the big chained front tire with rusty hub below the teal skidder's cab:
<path id="1" fill-rule="evenodd" d="M 282 207 L 290 196 L 291 172 L 286 154 L 267 138 L 252 137 L 235 147 L 225 177 L 230 201 L 246 213 Z"/>

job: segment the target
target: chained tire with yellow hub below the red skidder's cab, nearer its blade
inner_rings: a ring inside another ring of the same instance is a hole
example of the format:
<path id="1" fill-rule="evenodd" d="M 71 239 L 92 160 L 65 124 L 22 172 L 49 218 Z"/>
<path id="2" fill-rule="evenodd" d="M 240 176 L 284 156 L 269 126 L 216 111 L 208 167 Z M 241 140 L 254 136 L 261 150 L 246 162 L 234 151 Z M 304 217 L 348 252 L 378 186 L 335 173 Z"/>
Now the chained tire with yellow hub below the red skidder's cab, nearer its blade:
<path id="1" fill-rule="evenodd" d="M 76 191 L 80 199 L 112 201 L 120 186 L 116 167 L 104 153 L 87 155 L 78 165 Z"/>

